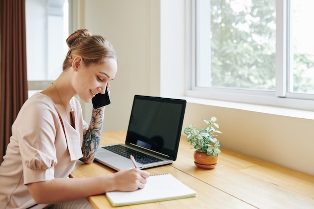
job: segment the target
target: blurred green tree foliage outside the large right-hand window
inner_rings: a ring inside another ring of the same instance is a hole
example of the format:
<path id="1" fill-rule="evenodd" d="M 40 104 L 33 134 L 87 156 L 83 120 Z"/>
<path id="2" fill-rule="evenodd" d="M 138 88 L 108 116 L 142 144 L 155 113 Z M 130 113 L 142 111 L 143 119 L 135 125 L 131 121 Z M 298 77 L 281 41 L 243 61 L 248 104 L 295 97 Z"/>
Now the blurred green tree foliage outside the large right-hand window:
<path id="1" fill-rule="evenodd" d="M 275 3 L 211 0 L 212 87 L 275 89 Z M 314 89 L 304 76 L 313 63 L 310 55 L 294 55 L 294 92 Z"/>

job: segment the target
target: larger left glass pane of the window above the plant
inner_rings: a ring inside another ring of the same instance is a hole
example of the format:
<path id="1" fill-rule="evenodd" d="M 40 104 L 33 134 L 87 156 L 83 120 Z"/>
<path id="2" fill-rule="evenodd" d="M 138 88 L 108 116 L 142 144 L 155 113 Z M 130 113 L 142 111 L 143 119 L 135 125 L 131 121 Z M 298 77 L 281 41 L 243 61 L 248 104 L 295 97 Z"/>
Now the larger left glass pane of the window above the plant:
<path id="1" fill-rule="evenodd" d="M 196 10 L 197 86 L 274 90 L 275 0 L 200 0 Z"/>

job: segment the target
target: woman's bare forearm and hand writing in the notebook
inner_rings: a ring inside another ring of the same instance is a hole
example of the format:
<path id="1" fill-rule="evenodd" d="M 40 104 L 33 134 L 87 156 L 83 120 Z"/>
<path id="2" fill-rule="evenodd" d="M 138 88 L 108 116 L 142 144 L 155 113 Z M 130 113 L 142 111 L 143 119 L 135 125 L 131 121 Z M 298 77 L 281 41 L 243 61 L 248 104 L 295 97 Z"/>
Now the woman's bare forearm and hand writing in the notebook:
<path id="1" fill-rule="evenodd" d="M 55 178 L 27 184 L 38 204 L 73 201 L 108 191 L 134 191 L 143 188 L 149 173 L 138 168 L 120 170 L 113 174 L 84 178 Z"/>

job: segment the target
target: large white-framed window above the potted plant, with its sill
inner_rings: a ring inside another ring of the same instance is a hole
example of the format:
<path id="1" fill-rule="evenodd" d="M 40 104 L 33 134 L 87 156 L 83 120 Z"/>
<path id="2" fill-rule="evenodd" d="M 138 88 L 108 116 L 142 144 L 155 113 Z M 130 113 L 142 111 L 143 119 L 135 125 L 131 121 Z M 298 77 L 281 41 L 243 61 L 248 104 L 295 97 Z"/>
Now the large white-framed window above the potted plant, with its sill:
<path id="1" fill-rule="evenodd" d="M 188 95 L 312 109 L 313 6 L 306 0 L 192 1 Z"/>

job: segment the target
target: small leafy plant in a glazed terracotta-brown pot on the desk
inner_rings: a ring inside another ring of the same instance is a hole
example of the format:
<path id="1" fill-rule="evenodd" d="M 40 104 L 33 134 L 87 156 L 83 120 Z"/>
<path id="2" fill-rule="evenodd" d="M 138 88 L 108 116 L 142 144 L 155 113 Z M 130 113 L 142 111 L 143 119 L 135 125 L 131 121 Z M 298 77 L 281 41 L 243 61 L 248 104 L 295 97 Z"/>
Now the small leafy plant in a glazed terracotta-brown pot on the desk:
<path id="1" fill-rule="evenodd" d="M 204 129 L 193 127 L 190 124 L 184 129 L 184 133 L 187 134 L 187 140 L 193 146 L 194 152 L 194 163 L 198 167 L 202 168 L 213 168 L 217 164 L 218 154 L 221 152 L 220 142 L 215 137 L 216 133 L 222 133 L 216 128 L 219 125 L 216 123 L 217 118 L 212 117 L 210 120 L 203 119 L 207 124 Z"/>

